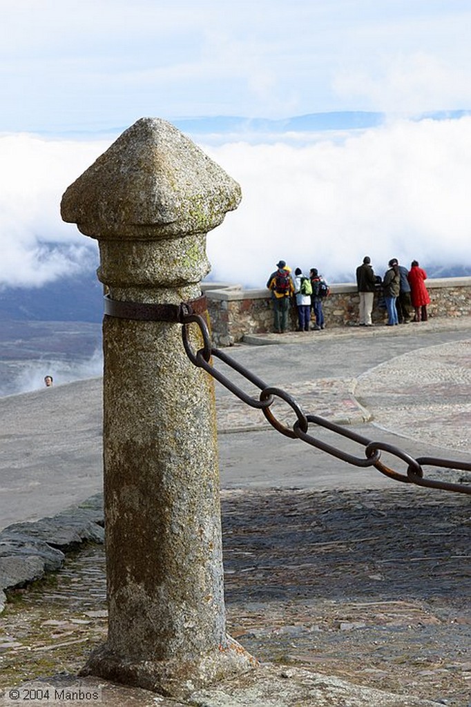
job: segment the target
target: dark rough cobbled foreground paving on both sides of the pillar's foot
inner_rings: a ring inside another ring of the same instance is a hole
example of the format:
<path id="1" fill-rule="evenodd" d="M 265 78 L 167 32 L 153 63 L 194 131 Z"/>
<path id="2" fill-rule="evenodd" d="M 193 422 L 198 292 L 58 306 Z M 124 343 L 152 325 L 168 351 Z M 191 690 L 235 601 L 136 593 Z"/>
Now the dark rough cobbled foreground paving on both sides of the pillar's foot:
<path id="1" fill-rule="evenodd" d="M 262 662 L 391 691 L 405 707 L 413 695 L 471 704 L 465 497 L 224 491 L 223 542 L 228 629 Z M 76 672 L 105 638 L 103 549 L 11 598 L 0 687 Z"/>

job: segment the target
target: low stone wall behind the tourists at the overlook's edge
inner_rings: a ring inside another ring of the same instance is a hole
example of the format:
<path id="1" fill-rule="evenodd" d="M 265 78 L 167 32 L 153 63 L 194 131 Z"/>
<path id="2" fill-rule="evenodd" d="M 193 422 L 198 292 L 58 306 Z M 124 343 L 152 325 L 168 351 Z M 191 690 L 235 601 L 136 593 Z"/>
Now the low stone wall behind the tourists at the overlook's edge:
<path id="1" fill-rule="evenodd" d="M 426 281 L 431 303 L 430 317 L 471 315 L 471 277 L 431 279 Z M 209 316 L 216 346 L 232 346 L 245 334 L 263 334 L 273 330 L 273 309 L 267 289 L 244 290 L 240 285 L 224 286 L 203 283 L 208 298 Z M 358 322 L 359 296 L 353 283 L 330 286 L 324 303 L 328 327 L 349 327 Z M 373 305 L 373 322 L 385 322 L 386 312 Z M 291 329 L 296 329 L 296 307 L 291 308 Z"/>

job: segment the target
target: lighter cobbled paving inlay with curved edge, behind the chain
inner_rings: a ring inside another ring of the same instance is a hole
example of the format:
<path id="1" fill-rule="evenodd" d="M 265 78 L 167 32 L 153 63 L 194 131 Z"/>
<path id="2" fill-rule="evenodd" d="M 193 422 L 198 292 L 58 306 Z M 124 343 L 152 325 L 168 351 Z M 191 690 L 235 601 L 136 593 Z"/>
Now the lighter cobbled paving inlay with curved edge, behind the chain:
<path id="1" fill-rule="evenodd" d="M 397 435 L 471 451 L 471 339 L 427 346 L 381 363 L 359 378 L 279 382 L 306 412 L 340 424 L 374 421 Z M 272 406 L 283 424 L 293 420 L 287 404 Z M 221 395 L 220 433 L 269 429 L 260 410 Z"/>

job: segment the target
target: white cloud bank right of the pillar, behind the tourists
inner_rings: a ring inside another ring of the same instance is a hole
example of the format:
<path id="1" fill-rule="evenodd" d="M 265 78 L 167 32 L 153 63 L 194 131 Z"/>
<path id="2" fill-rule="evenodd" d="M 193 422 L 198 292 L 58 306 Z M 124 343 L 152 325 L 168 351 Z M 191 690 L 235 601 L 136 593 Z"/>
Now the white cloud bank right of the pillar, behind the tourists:
<path id="1" fill-rule="evenodd" d="M 303 148 L 207 148 L 243 201 L 208 237 L 213 276 L 264 286 L 279 258 L 353 276 L 364 255 L 471 268 L 471 119 L 397 122 Z"/>

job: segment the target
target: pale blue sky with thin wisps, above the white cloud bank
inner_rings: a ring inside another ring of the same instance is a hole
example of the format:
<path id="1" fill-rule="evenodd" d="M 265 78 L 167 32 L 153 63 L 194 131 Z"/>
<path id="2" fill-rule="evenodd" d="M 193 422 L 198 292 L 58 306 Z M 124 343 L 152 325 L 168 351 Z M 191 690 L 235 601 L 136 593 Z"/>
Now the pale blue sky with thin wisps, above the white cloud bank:
<path id="1" fill-rule="evenodd" d="M 2 0 L 0 132 L 471 107 L 469 0 Z"/>

